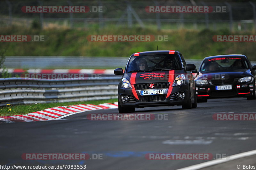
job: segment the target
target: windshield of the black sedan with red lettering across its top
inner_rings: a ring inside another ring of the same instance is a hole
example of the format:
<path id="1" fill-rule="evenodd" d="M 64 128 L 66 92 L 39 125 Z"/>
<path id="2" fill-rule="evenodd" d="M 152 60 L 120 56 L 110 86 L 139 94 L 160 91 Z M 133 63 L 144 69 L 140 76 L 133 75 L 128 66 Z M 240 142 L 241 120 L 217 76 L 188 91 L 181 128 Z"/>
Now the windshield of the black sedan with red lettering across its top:
<path id="1" fill-rule="evenodd" d="M 248 64 L 243 57 L 219 57 L 205 59 L 201 66 L 200 72 L 220 72 L 220 71 L 240 71 L 248 69 Z"/>

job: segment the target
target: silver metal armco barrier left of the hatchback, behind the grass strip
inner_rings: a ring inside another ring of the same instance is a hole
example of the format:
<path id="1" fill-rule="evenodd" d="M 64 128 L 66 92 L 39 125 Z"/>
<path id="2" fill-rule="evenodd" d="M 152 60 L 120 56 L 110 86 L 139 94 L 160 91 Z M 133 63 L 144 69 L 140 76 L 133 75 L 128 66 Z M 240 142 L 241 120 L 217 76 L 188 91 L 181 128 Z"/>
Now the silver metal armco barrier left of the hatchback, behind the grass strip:
<path id="1" fill-rule="evenodd" d="M 0 79 L 0 106 L 117 98 L 120 76 L 86 80 Z"/>

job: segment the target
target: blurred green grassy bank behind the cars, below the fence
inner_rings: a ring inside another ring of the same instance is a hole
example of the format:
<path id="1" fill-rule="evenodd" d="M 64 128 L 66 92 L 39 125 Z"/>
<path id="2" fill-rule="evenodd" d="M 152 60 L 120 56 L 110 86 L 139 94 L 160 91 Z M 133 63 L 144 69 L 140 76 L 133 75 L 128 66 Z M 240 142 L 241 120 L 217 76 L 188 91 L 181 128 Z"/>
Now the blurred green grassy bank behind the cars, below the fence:
<path id="1" fill-rule="evenodd" d="M 112 56 L 129 57 L 148 50 L 179 50 L 185 59 L 203 59 L 220 54 L 245 54 L 254 61 L 255 42 L 214 42 L 214 35 L 254 35 L 253 31 L 220 30 L 161 30 L 150 28 L 104 29 L 32 29 L 0 28 L 3 35 L 44 35 L 45 42 L 0 42 L 6 56 Z M 166 35 L 168 41 L 152 42 L 90 42 L 90 35 Z"/>

